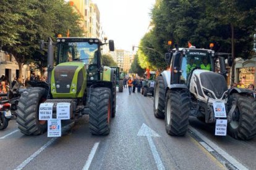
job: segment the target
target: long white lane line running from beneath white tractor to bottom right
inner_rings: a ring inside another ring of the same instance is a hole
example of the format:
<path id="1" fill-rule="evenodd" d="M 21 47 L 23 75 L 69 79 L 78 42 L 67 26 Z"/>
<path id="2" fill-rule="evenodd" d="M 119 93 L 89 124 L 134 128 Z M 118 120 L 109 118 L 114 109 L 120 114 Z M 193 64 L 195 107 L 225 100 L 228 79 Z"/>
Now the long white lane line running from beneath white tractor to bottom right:
<path id="1" fill-rule="evenodd" d="M 243 164 L 239 163 L 233 156 L 229 155 L 227 152 L 225 152 L 223 149 L 218 147 L 218 145 L 214 144 L 211 142 L 210 139 L 207 137 L 203 136 L 199 131 L 197 131 L 194 127 L 189 126 L 189 129 L 196 134 L 198 137 L 200 137 L 205 143 L 207 143 L 211 148 L 213 148 L 216 152 L 218 152 L 221 156 L 223 156 L 226 160 L 228 160 L 231 164 L 236 166 L 237 169 L 248 169 L 246 168 Z"/>

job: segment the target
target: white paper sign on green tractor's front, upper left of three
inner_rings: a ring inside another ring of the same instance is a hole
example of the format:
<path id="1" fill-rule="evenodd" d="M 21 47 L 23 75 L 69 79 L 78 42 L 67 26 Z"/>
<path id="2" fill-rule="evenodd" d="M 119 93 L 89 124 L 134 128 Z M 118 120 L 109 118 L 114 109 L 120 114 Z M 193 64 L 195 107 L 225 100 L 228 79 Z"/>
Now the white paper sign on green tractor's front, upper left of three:
<path id="1" fill-rule="evenodd" d="M 39 120 L 53 118 L 53 103 L 41 103 L 39 107 Z"/>

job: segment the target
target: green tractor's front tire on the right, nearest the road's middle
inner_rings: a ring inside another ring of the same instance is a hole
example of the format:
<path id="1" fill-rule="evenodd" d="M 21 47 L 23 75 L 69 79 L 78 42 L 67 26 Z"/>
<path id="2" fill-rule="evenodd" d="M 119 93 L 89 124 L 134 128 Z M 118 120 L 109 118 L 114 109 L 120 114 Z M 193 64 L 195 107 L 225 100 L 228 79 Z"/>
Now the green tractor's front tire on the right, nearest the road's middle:
<path id="1" fill-rule="evenodd" d="M 94 135 L 107 135 L 111 121 L 111 91 L 106 87 L 92 89 L 89 106 L 90 132 Z"/>

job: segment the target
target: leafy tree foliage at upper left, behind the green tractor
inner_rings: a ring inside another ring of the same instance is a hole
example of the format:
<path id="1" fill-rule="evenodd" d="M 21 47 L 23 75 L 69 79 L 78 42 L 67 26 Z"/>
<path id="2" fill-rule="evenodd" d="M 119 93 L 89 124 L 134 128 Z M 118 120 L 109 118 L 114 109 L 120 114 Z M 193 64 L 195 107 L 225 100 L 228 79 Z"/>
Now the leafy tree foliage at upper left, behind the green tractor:
<path id="1" fill-rule="evenodd" d="M 46 51 L 39 51 L 40 39 L 55 40 L 68 29 L 70 36 L 82 35 L 79 15 L 64 0 L 2 0 L 0 14 L 1 49 L 13 54 L 19 66 L 35 59 L 38 68 L 46 66 Z"/>

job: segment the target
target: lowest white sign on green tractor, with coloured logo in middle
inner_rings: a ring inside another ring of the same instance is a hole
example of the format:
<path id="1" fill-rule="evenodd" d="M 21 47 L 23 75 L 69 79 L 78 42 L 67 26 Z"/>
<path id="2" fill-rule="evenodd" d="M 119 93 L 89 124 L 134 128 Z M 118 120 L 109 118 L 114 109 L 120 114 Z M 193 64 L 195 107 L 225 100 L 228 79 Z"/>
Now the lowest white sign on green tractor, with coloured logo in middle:
<path id="1" fill-rule="evenodd" d="M 61 136 L 61 120 L 49 119 L 47 137 L 60 137 Z"/>

